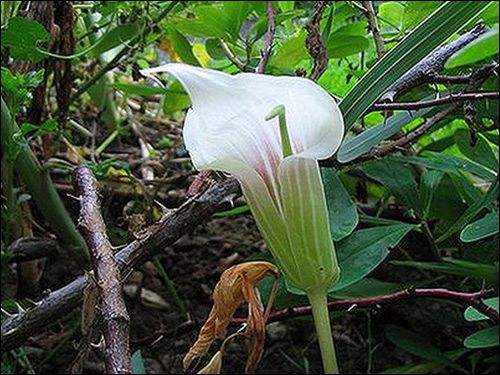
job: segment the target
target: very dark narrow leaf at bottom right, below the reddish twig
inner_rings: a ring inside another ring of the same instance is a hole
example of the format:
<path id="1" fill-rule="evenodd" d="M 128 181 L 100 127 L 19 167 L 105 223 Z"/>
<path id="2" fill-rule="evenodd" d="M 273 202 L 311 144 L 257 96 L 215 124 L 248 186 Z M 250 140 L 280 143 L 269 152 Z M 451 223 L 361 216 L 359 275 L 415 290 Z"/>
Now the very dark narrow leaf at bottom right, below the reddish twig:
<path id="1" fill-rule="evenodd" d="M 429 341 L 412 331 L 389 324 L 385 327 L 385 336 L 394 345 L 409 353 L 441 365 L 461 369 Z"/>

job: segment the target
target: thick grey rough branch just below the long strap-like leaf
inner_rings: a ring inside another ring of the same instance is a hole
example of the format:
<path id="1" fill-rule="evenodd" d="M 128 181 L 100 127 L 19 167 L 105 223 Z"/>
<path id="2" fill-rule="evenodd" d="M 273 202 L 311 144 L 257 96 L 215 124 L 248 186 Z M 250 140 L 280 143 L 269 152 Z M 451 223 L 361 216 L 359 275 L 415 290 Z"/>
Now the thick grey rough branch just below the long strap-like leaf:
<path id="1" fill-rule="evenodd" d="M 470 42 L 476 40 L 486 31 L 487 29 L 483 24 L 478 24 L 455 41 L 437 48 L 401 77 L 401 79 L 382 95 L 380 101 L 394 101 L 411 89 L 421 84 L 432 82 L 433 77 L 439 73 L 444 63 L 451 55 L 464 48 Z"/>

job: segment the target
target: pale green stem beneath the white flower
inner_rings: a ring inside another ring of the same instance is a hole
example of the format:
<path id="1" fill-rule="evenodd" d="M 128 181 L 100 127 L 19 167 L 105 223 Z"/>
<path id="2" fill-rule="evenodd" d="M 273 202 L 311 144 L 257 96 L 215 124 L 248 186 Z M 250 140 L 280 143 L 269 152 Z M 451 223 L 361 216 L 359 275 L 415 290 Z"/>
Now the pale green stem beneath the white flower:
<path id="1" fill-rule="evenodd" d="M 325 374 L 338 374 L 339 368 L 333 344 L 326 292 L 314 290 L 308 292 L 307 297 L 312 307 L 314 325 L 316 326 L 316 334 L 318 335 L 319 348 L 323 360 L 323 371 Z"/>

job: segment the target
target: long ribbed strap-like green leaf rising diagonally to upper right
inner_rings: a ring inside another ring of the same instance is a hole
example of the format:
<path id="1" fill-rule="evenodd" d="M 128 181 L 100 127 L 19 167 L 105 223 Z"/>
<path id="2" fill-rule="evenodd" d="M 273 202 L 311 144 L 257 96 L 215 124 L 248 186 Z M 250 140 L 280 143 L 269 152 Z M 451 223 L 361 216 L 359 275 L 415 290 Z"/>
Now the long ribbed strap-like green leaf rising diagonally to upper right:
<path id="1" fill-rule="evenodd" d="M 340 103 L 349 129 L 389 87 L 436 47 L 479 14 L 489 1 L 446 1 L 392 48 Z"/>

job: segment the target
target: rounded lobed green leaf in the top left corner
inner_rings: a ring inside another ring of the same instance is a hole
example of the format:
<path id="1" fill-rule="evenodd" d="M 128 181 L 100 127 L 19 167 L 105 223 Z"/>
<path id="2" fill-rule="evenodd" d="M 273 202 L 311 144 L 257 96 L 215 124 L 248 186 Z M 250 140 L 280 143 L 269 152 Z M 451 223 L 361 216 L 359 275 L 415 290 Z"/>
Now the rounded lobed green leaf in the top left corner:
<path id="1" fill-rule="evenodd" d="M 11 18 L 1 34 L 2 47 L 9 48 L 15 60 L 29 60 L 33 63 L 45 58 L 37 50 L 38 43 L 46 42 L 49 38 L 50 34 L 41 23 L 23 17 Z"/>

